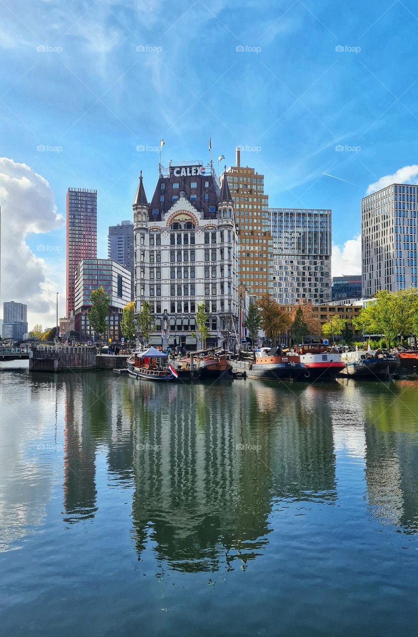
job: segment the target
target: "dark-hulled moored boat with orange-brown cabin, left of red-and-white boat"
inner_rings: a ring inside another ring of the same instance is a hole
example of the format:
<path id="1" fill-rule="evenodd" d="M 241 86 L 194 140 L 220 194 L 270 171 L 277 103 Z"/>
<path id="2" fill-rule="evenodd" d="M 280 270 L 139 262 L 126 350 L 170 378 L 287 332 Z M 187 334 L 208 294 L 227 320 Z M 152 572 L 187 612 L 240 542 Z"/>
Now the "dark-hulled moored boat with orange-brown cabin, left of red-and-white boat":
<path id="1" fill-rule="evenodd" d="M 234 371 L 245 372 L 249 378 L 269 380 L 294 380 L 310 376 L 306 366 L 296 355 L 284 354 L 278 347 L 262 347 L 259 352 L 250 354 L 250 358 L 233 362 Z"/>

